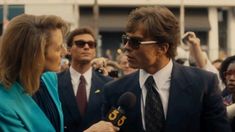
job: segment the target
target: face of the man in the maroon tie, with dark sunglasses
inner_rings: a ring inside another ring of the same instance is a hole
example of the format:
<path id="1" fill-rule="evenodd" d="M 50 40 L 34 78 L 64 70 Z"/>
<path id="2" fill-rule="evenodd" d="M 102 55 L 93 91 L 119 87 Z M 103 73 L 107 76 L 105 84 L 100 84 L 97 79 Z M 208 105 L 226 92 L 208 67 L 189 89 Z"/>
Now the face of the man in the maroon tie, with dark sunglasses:
<path id="1" fill-rule="evenodd" d="M 81 34 L 73 37 L 70 49 L 72 61 L 80 64 L 90 63 L 96 56 L 96 42 L 90 34 Z"/>

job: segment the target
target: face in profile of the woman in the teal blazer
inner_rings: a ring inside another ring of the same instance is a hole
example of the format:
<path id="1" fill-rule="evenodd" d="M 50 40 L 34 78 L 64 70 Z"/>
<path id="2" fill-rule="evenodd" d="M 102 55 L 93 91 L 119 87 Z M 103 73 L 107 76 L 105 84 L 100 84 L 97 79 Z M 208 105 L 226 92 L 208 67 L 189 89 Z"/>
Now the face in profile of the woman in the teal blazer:
<path id="1" fill-rule="evenodd" d="M 61 30 L 51 31 L 51 41 L 46 48 L 45 70 L 59 71 L 62 54 L 66 52 L 63 47 L 63 35 Z"/>

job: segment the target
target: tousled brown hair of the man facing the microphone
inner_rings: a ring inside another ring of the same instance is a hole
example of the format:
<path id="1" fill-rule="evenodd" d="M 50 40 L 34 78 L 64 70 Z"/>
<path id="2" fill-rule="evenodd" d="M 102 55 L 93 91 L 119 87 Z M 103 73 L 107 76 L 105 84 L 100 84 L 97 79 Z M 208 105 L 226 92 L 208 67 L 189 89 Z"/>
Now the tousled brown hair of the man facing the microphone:
<path id="1" fill-rule="evenodd" d="M 140 7 L 133 10 L 126 32 L 133 33 L 143 27 L 144 37 L 152 38 L 159 45 L 169 44 L 167 56 L 174 58 L 179 44 L 179 23 L 174 14 L 162 6 Z"/>

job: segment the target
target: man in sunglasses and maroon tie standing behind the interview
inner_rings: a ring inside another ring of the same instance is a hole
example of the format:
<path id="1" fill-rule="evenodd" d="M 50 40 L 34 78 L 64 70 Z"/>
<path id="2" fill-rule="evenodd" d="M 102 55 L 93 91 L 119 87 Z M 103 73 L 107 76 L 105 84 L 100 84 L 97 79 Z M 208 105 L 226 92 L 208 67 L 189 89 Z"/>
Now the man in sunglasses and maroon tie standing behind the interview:
<path id="1" fill-rule="evenodd" d="M 67 39 L 71 66 L 58 74 L 64 131 L 81 132 L 101 120 L 103 85 L 111 80 L 94 71 L 96 40 L 89 28 L 73 30 Z"/>

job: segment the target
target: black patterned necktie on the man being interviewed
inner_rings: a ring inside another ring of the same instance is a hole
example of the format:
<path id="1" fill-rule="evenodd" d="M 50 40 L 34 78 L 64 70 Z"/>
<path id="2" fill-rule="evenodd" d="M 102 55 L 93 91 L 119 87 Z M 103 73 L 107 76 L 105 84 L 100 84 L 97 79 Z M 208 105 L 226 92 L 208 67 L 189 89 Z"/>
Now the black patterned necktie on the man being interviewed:
<path id="1" fill-rule="evenodd" d="M 154 88 L 153 77 L 149 76 L 144 85 L 147 89 L 144 114 L 146 132 L 162 132 L 165 122 L 164 111 L 159 93 Z"/>

